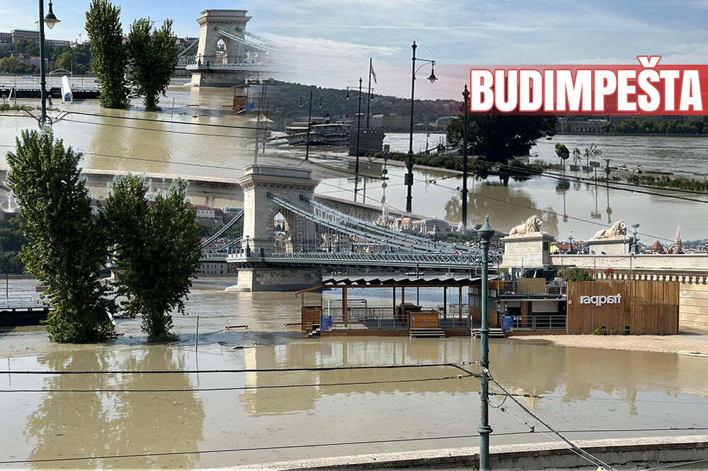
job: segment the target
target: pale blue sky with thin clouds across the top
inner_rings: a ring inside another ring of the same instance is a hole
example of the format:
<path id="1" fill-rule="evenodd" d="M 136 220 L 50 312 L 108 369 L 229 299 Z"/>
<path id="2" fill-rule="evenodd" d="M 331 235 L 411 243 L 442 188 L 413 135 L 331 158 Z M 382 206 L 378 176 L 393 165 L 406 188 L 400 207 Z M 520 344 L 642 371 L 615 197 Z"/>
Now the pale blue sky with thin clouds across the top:
<path id="1" fill-rule="evenodd" d="M 203 8 L 248 10 L 247 29 L 285 51 L 279 79 L 333 88 L 367 81 L 375 93 L 410 96 L 411 43 L 437 62 L 423 66 L 416 98 L 461 99 L 469 66 L 484 64 L 707 64 L 708 0 L 115 0 L 133 19 L 172 18 L 178 36 L 198 36 Z M 89 0 L 55 0 L 62 20 L 48 37 L 86 39 Z M 0 0 L 0 31 L 35 28 L 37 6 Z"/>

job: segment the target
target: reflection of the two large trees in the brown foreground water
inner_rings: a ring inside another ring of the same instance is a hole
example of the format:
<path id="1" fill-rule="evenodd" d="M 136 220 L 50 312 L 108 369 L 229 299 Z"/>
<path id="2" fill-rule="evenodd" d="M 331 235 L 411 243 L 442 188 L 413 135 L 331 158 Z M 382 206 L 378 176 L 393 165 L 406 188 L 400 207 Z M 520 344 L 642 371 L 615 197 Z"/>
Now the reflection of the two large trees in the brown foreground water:
<path id="1" fill-rule="evenodd" d="M 120 361 L 115 352 L 83 351 L 37 357 L 50 370 L 181 370 L 178 351 L 156 347 L 135 351 Z M 48 389 L 193 388 L 185 374 L 64 375 L 51 376 Z M 165 453 L 195 450 L 202 441 L 205 417 L 202 401 L 193 392 L 47 392 L 28 417 L 25 437 L 36 441 L 28 459 L 67 456 Z M 122 467 L 176 469 L 193 467 L 199 455 L 169 455 L 121 460 Z M 34 463 L 37 469 L 55 469 L 56 462 Z M 112 467 L 109 462 L 72 462 L 85 468 Z"/>

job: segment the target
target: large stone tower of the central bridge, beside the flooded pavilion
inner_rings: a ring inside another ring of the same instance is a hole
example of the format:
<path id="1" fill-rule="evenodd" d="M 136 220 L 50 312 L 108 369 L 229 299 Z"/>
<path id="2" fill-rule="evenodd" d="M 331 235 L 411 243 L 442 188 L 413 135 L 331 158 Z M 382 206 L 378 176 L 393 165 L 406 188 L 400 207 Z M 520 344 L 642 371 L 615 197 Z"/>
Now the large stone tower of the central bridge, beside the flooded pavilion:
<path id="1" fill-rule="evenodd" d="M 280 207 L 268 194 L 307 211 L 301 196 L 314 199 L 314 188 L 319 180 L 312 178 L 307 168 L 279 167 L 277 165 L 249 165 L 246 174 L 239 178 L 244 188 L 244 238 L 241 247 L 246 256 L 239 267 L 236 291 L 290 291 L 302 289 L 321 280 L 321 270 L 313 268 L 268 267 L 260 262 L 261 250 L 273 252 L 275 248 L 275 216 L 285 217 L 289 238 L 285 241 L 287 252 L 299 252 L 303 241 L 316 238 L 316 224 L 292 211 Z"/>

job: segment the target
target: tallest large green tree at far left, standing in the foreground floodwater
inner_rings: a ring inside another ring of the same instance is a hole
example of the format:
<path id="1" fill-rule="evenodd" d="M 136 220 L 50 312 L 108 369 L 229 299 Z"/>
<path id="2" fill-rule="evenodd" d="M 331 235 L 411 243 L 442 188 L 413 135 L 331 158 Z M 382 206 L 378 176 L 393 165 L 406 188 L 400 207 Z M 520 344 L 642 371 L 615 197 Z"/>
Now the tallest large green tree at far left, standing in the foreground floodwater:
<path id="1" fill-rule="evenodd" d="M 16 150 L 6 155 L 28 240 L 22 258 L 47 286 L 45 296 L 54 307 L 47 331 L 54 342 L 98 342 L 113 335 L 108 313 L 115 305 L 98 279 L 108 255 L 106 231 L 102 219 L 91 216 L 81 158 L 50 129 L 23 131 Z"/>

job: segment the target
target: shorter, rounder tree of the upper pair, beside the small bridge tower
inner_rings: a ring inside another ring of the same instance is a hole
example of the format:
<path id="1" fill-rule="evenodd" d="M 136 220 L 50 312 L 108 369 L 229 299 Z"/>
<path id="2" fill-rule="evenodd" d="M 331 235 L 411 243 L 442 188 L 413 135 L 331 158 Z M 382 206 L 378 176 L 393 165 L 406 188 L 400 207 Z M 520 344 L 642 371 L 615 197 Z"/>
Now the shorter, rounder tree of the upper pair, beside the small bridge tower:
<path id="1" fill-rule="evenodd" d="M 147 110 L 158 110 L 159 95 L 166 95 L 179 54 L 172 20 L 165 20 L 159 30 L 150 18 L 133 21 L 126 45 L 135 91 Z"/>

